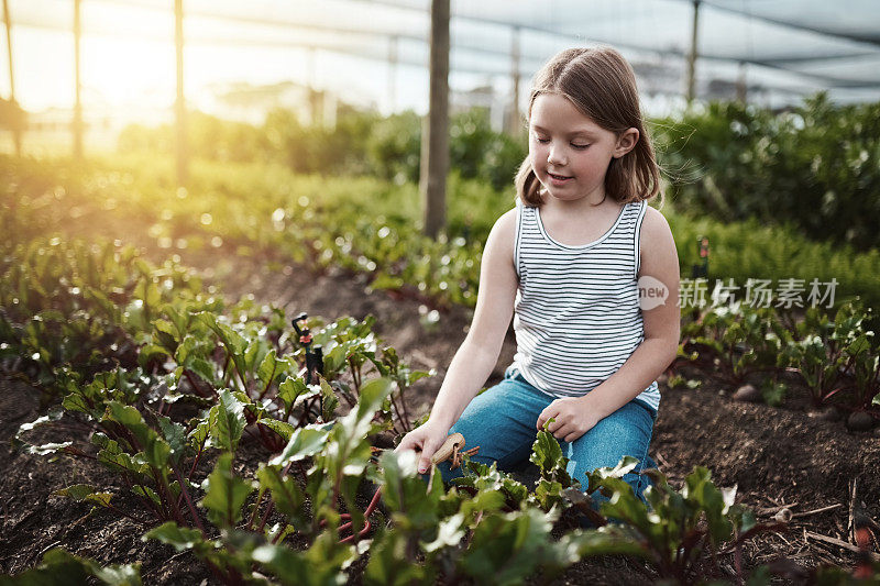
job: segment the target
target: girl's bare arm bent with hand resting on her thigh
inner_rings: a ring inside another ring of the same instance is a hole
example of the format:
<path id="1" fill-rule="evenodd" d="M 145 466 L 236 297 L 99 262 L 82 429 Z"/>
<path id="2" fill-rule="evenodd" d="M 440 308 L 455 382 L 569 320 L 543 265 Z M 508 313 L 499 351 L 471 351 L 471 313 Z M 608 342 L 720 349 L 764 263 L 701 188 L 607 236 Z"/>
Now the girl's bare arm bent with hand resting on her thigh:
<path id="1" fill-rule="evenodd" d="M 645 340 L 616 373 L 583 397 L 557 399 L 541 412 L 537 428 L 542 429 L 547 420 L 556 417 L 548 431 L 557 439 L 576 440 L 636 398 L 675 360 L 681 335 L 679 255 L 667 219 L 651 207 L 641 222 L 639 248 L 639 279 L 653 277 L 660 281 L 666 299 L 652 309 L 642 306 Z"/>

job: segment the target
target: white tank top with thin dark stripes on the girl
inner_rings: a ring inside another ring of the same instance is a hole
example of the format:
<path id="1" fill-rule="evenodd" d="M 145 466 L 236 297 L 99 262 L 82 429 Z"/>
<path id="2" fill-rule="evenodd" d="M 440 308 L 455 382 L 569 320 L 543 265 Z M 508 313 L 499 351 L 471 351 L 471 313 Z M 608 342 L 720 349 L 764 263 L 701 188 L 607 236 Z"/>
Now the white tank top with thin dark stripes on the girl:
<path id="1" fill-rule="evenodd" d="M 550 237 L 538 208 L 517 200 L 514 368 L 553 397 L 580 397 L 612 376 L 645 339 L 639 229 L 647 202 L 627 203 L 598 240 Z M 657 410 L 657 382 L 637 399 Z"/>

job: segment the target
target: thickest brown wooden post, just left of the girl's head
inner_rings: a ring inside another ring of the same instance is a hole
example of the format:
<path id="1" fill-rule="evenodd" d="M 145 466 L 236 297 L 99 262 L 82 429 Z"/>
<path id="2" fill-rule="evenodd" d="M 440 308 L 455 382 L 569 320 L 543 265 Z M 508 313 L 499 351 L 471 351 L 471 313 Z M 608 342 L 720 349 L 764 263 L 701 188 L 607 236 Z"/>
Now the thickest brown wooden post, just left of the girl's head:
<path id="1" fill-rule="evenodd" d="M 428 119 L 421 135 L 425 234 L 437 237 L 446 226 L 449 170 L 449 0 L 431 1 L 431 63 Z"/>

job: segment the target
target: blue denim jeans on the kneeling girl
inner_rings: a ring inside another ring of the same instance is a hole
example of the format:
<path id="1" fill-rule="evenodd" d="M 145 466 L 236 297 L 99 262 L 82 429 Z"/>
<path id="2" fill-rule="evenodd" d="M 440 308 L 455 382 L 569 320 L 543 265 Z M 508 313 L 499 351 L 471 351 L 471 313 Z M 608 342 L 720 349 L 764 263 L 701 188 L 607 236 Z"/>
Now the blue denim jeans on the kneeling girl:
<path id="1" fill-rule="evenodd" d="M 528 462 L 538 434 L 538 416 L 553 400 L 556 397 L 535 388 L 518 371 L 508 367 L 504 380 L 474 397 L 449 433 L 464 435 L 465 450 L 480 446 L 479 454 L 471 460 L 486 465 L 497 462 L 498 469 L 509 472 Z M 642 491 L 650 479 L 639 472 L 657 467 L 648 455 L 656 419 L 657 411 L 634 399 L 573 442 L 557 440 L 562 454 L 569 458 L 566 472 L 585 488 L 587 472 L 613 467 L 625 455 L 634 456 L 639 464 L 623 479 L 644 501 Z M 461 467 L 450 469 L 449 461 L 441 462 L 437 468 L 444 483 L 464 475 Z M 593 499 L 597 504 L 605 497 L 596 491 Z"/>

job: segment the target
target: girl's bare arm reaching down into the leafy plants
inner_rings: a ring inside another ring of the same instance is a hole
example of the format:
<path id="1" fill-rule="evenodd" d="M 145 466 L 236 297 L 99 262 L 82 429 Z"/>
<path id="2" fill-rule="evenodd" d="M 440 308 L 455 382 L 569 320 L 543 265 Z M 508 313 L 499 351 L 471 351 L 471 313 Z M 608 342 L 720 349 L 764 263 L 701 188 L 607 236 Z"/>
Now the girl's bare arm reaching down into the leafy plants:
<path id="1" fill-rule="evenodd" d="M 428 421 L 409 432 L 395 450 L 421 450 L 419 472 L 443 443 L 449 429 L 485 384 L 510 325 L 518 277 L 514 267 L 516 209 L 492 228 L 480 267 L 480 291 L 468 336 L 449 365 Z"/>

